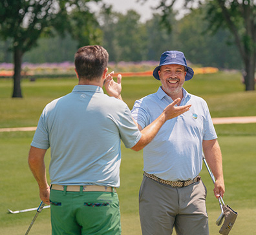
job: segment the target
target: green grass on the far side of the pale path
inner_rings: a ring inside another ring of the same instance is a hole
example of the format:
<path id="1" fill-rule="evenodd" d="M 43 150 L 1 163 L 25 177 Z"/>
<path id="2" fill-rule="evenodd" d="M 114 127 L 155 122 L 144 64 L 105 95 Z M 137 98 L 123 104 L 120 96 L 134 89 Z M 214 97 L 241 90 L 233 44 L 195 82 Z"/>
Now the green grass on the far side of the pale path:
<path id="1" fill-rule="evenodd" d="M 12 99 L 12 79 L 0 79 L 0 128 L 36 126 L 45 105 L 71 92 L 77 83 L 76 77 L 23 79 L 23 99 Z M 123 100 L 132 108 L 136 99 L 156 92 L 159 86 L 153 77 L 123 77 Z M 206 99 L 213 118 L 256 116 L 256 92 L 244 92 L 239 73 L 198 74 L 184 87 Z"/>

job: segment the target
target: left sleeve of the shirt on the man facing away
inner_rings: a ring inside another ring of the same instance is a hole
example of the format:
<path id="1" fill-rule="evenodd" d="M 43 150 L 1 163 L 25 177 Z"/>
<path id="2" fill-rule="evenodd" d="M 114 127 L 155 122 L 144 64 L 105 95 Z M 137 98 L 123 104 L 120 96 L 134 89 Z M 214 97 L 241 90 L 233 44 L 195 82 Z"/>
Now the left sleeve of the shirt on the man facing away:
<path id="1" fill-rule="evenodd" d="M 45 124 L 45 109 L 39 118 L 31 146 L 42 149 L 48 149 L 50 147 L 48 131 Z"/>

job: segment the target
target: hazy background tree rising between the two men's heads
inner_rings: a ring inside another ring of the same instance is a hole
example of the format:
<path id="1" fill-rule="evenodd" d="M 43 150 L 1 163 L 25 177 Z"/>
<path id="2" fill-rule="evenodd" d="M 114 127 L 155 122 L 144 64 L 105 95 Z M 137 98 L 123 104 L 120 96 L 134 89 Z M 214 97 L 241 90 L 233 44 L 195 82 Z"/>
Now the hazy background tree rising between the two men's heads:
<path id="1" fill-rule="evenodd" d="M 100 15 L 103 45 L 110 61 L 141 61 L 146 59 L 147 35 L 140 15 L 134 10 L 126 14 L 113 12 L 109 7 Z"/>

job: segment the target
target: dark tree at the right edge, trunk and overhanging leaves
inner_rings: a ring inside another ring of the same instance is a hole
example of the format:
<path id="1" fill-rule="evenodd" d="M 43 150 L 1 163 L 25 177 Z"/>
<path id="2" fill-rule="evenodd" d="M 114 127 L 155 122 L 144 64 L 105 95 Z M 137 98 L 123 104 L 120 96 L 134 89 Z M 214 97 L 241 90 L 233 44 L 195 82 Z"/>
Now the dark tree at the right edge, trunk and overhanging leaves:
<path id="1" fill-rule="evenodd" d="M 140 0 L 147 1 L 147 0 Z M 160 0 L 158 9 L 162 10 L 162 19 L 167 23 L 168 12 L 173 9 L 176 0 Z M 209 30 L 217 32 L 219 28 L 228 28 L 233 35 L 240 58 L 244 63 L 246 90 L 255 90 L 256 64 L 256 3 L 253 0 L 185 0 L 184 8 L 198 8 L 202 4 L 208 7 L 205 18 Z"/>

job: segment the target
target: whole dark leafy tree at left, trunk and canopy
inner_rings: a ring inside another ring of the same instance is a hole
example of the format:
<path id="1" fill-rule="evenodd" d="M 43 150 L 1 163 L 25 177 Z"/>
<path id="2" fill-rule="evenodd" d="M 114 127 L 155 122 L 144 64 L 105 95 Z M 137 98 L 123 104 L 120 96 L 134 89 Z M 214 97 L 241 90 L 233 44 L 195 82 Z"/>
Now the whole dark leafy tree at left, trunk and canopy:
<path id="1" fill-rule="evenodd" d="M 21 63 L 25 52 L 36 46 L 40 36 L 51 35 L 52 28 L 62 34 L 65 30 L 85 44 L 95 40 L 94 28 L 86 26 L 96 24 L 94 14 L 89 10 L 88 2 L 101 0 L 1 0 L 0 2 L 0 36 L 11 39 L 14 55 L 14 89 L 12 97 L 21 94 Z M 81 16 L 82 15 L 82 16 Z M 78 21 L 79 19 L 79 21 Z M 83 36 L 78 34 L 81 26 Z M 98 30 L 96 30 L 98 34 Z M 86 39 L 86 40 L 85 40 Z"/>

